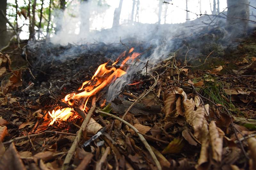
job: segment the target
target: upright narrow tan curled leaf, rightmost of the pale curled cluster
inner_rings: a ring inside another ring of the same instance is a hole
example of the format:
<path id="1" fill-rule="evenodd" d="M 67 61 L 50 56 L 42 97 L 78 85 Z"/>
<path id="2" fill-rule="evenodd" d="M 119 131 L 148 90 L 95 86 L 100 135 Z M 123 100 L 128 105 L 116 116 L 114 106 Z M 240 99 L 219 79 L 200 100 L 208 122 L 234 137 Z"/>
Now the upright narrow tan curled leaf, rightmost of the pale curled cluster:
<path id="1" fill-rule="evenodd" d="M 210 142 L 212 145 L 212 158 L 218 162 L 221 161 L 223 137 L 225 133 L 216 126 L 215 121 L 209 124 Z"/>

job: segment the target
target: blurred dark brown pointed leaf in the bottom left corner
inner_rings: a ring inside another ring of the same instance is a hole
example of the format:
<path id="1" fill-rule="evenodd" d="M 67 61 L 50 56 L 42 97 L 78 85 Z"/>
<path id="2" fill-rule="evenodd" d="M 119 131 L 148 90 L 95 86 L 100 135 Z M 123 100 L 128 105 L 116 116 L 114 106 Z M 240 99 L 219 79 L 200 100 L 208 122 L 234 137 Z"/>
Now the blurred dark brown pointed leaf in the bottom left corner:
<path id="1" fill-rule="evenodd" d="M 0 160 L 0 169 L 26 170 L 13 143 L 10 145 Z"/>

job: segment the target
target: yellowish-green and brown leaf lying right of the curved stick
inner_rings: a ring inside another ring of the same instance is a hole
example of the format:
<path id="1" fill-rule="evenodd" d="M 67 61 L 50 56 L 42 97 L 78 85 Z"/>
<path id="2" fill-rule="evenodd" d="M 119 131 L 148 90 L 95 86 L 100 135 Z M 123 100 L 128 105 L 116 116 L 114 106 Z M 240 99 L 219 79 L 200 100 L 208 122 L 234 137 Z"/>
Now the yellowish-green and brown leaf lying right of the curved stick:
<path id="1" fill-rule="evenodd" d="M 163 154 L 166 153 L 180 153 L 180 151 L 183 149 L 185 145 L 183 138 L 174 138 L 172 142 L 169 143 L 169 145 L 164 148 L 162 151 Z"/>

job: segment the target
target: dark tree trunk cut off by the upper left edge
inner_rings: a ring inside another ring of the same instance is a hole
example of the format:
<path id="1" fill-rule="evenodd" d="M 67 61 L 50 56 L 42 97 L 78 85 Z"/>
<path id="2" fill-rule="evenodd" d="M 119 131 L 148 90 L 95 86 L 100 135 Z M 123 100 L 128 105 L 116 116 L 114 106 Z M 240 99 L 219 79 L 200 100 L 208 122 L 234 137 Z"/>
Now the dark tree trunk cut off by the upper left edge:
<path id="1" fill-rule="evenodd" d="M 7 0 L 1 0 L 0 2 L 0 10 L 2 10 L 4 12 L 4 14 L 6 15 L 6 5 L 7 5 Z M 1 12 L 1 11 L 0 11 Z M 5 45 L 7 45 L 7 36 L 6 36 L 6 20 L 5 18 L 0 15 L 0 48 L 4 47 Z"/>

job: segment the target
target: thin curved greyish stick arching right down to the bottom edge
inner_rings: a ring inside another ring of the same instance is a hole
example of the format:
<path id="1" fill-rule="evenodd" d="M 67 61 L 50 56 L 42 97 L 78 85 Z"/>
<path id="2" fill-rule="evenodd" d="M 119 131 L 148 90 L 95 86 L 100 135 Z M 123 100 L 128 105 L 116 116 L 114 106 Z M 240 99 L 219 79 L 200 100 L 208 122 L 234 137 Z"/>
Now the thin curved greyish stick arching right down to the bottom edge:
<path id="1" fill-rule="evenodd" d="M 117 117 L 115 115 L 112 115 L 110 113 L 107 113 L 107 112 L 104 112 L 104 111 L 100 111 L 100 110 L 96 110 L 96 113 L 102 113 L 104 115 L 107 115 L 107 116 L 110 116 L 110 117 L 113 117 L 121 122 L 123 122 L 124 124 L 126 124 L 127 126 L 129 126 L 133 131 L 135 131 L 137 133 L 137 135 L 139 136 L 141 142 L 145 145 L 145 147 L 147 148 L 149 154 L 151 155 L 152 159 L 154 160 L 155 164 L 156 164 L 156 167 L 157 169 L 161 170 L 161 166 L 160 166 L 160 163 L 159 161 L 157 160 L 156 158 L 156 155 L 155 153 L 152 151 L 151 147 L 149 146 L 148 142 L 146 141 L 146 139 L 143 137 L 143 135 L 140 134 L 140 132 L 134 127 L 132 126 L 131 124 L 129 124 L 128 122 L 126 122 L 124 119 L 121 119 L 120 117 Z"/>

